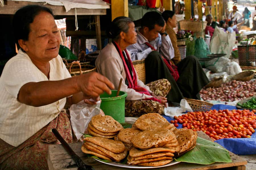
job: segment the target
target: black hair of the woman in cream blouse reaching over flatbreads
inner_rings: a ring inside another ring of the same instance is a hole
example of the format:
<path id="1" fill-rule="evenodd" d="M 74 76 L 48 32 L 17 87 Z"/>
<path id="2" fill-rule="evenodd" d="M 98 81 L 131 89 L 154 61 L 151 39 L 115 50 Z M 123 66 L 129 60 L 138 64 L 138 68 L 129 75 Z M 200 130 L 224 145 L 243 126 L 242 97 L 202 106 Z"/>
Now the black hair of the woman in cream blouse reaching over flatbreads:
<path id="1" fill-rule="evenodd" d="M 27 5 L 16 11 L 13 16 L 13 32 L 16 44 L 19 48 L 18 40 L 28 40 L 30 24 L 34 21 L 35 16 L 45 11 L 53 16 L 52 10 L 40 5 Z M 54 16 L 53 16 L 54 17 Z"/>

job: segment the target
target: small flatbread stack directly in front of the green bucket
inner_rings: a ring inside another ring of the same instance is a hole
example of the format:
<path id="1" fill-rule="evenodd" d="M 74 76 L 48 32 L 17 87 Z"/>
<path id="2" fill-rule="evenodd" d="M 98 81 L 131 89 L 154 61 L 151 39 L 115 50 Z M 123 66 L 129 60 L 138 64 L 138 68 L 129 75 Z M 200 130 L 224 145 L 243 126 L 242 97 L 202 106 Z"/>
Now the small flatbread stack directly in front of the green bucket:
<path id="1" fill-rule="evenodd" d="M 96 137 L 113 138 L 123 126 L 111 116 L 96 115 L 88 124 L 88 133 Z"/>

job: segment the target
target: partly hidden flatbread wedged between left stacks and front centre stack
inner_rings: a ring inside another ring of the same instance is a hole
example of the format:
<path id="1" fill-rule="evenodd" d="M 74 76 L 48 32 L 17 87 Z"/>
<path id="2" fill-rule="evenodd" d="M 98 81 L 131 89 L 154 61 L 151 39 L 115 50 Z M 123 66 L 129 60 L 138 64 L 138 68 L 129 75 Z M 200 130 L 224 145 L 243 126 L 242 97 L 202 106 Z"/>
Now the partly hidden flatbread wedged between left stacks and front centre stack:
<path id="1" fill-rule="evenodd" d="M 131 129 L 131 128 L 122 129 L 119 131 L 117 138 L 122 142 L 131 144 L 132 143 L 131 138 L 140 132 L 141 130 L 139 129 Z"/>

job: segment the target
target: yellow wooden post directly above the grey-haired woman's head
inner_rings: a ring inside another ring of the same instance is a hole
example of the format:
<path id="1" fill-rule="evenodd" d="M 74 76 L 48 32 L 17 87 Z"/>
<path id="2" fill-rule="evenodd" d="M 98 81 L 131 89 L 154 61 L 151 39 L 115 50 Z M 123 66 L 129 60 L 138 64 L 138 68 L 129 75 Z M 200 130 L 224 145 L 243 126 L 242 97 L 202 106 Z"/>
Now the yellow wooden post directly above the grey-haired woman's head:
<path id="1" fill-rule="evenodd" d="M 118 16 L 128 17 L 128 0 L 112 0 L 111 15 L 112 21 Z"/>

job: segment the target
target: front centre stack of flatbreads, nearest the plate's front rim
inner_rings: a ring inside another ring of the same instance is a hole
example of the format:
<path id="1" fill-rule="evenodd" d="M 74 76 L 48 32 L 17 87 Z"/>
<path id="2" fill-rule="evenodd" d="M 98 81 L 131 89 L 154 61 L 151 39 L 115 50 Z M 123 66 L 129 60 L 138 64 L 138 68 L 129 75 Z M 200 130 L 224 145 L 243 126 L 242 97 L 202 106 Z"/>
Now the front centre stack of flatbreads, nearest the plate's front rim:
<path id="1" fill-rule="evenodd" d="M 160 166 L 172 162 L 179 144 L 172 131 L 166 128 L 149 129 L 134 135 L 127 157 L 129 165 Z"/>

